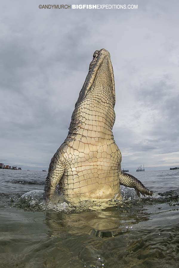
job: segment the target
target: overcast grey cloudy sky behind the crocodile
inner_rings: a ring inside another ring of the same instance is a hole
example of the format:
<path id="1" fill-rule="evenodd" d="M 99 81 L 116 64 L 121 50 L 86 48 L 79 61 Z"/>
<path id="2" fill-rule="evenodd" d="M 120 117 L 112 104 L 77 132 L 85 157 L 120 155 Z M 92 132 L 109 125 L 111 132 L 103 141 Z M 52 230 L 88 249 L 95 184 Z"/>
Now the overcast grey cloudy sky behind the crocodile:
<path id="1" fill-rule="evenodd" d="M 39 9 L 58 1 L 9 1 L 0 16 L 0 163 L 48 169 L 67 137 L 92 55 L 105 48 L 114 69 L 113 134 L 121 167 L 179 166 L 179 2 L 138 9 Z"/>

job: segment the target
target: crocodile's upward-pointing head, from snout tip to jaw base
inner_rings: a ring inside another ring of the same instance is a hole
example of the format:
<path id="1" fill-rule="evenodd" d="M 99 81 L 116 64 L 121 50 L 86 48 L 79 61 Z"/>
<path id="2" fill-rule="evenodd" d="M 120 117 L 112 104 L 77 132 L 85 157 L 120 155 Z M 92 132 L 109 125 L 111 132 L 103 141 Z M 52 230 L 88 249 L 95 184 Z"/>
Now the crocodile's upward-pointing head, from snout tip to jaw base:
<path id="1" fill-rule="evenodd" d="M 115 105 L 115 83 L 110 54 L 106 49 L 96 50 L 90 63 L 84 85 L 80 91 L 75 108 L 85 99 L 86 95 L 97 96 L 101 105 Z"/>

